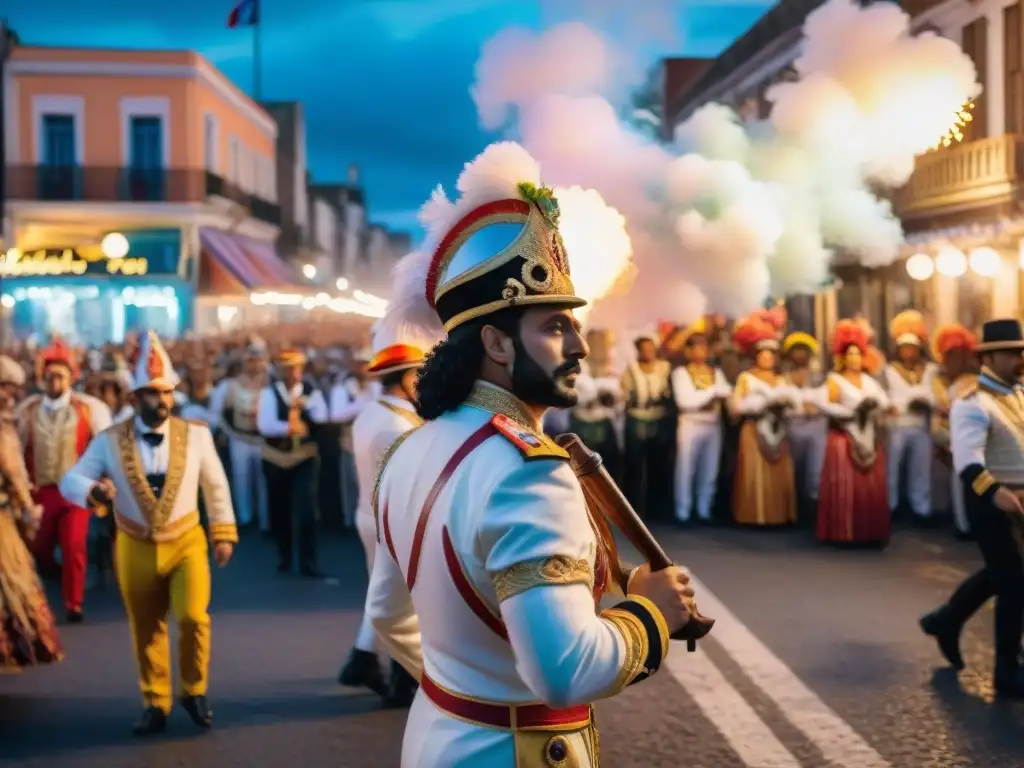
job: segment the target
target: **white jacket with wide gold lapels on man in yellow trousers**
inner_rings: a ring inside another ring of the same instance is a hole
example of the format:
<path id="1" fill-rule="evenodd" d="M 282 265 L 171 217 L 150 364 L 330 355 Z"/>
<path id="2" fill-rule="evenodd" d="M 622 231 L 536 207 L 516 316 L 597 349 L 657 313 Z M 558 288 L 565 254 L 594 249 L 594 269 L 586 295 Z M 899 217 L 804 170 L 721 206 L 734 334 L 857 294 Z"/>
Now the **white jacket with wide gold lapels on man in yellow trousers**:
<path id="1" fill-rule="evenodd" d="M 158 447 L 141 439 L 143 431 L 141 422 L 131 419 L 97 435 L 60 481 L 60 494 L 84 507 L 93 486 L 110 477 L 117 487 L 118 529 L 133 539 L 165 542 L 200 524 L 202 487 L 211 538 L 238 542 L 231 494 L 210 428 L 172 417 L 154 430 L 164 436 Z M 163 489 L 158 497 L 150 477 L 161 475 Z"/>

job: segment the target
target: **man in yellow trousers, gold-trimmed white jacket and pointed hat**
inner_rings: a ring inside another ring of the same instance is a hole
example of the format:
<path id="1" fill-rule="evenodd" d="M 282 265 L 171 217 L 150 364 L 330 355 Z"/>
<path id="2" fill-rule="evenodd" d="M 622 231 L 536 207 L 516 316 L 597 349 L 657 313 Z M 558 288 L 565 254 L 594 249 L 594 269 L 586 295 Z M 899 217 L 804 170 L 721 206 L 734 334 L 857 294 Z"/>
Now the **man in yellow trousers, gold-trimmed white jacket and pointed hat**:
<path id="1" fill-rule="evenodd" d="M 135 733 L 164 730 L 173 701 L 167 612 L 179 629 L 181 702 L 208 728 L 209 546 L 199 489 L 210 520 L 214 560 L 226 565 L 238 530 L 224 469 L 205 424 L 171 418 L 177 376 L 151 332 L 135 375 L 137 414 L 102 432 L 60 481 L 74 504 L 113 505 L 117 573 L 128 611 L 144 711 Z"/>

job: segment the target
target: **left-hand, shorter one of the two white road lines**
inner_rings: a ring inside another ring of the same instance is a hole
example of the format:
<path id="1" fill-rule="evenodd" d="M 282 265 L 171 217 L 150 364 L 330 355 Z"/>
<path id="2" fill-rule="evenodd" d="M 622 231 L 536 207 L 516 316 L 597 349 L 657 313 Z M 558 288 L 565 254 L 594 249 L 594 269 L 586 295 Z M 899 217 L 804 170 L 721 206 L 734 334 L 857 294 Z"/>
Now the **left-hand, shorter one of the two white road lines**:
<path id="1" fill-rule="evenodd" d="M 701 597 L 703 592 L 699 593 Z M 715 625 L 718 630 L 718 625 Z M 754 708 L 698 647 L 693 653 L 673 648 L 665 659 L 669 673 L 693 698 L 732 751 L 750 768 L 801 768 Z"/>

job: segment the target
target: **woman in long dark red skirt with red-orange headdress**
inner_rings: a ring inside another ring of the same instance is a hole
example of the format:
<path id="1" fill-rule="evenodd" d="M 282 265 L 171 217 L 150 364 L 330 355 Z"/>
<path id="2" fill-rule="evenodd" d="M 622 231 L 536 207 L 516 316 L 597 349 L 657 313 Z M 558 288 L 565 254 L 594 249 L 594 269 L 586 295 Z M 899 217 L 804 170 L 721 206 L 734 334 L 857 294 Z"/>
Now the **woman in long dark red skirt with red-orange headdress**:
<path id="1" fill-rule="evenodd" d="M 817 538 L 831 544 L 885 546 L 892 520 L 879 426 L 889 398 L 864 370 L 869 343 L 858 321 L 840 321 L 835 361 L 817 406 L 828 417 Z"/>

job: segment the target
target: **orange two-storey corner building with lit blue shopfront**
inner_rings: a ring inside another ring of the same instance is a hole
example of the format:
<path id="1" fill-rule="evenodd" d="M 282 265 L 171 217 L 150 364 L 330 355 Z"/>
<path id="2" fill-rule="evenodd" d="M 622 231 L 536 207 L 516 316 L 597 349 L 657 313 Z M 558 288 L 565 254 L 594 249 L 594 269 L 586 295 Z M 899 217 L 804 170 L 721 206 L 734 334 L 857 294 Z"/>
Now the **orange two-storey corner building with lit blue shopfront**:
<path id="1" fill-rule="evenodd" d="M 0 310 L 18 336 L 169 338 L 266 321 L 276 124 L 190 51 L 15 47 Z M 260 315 L 260 316 L 257 316 Z"/>

